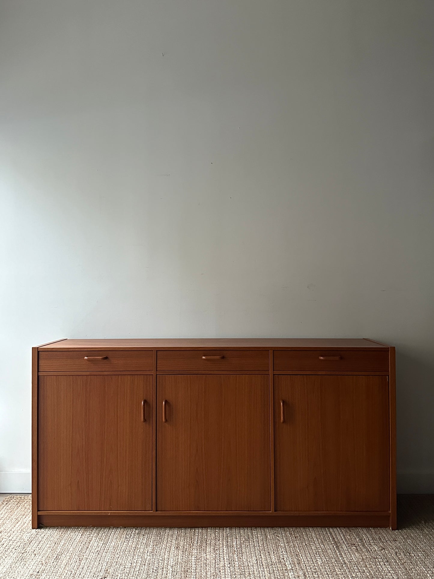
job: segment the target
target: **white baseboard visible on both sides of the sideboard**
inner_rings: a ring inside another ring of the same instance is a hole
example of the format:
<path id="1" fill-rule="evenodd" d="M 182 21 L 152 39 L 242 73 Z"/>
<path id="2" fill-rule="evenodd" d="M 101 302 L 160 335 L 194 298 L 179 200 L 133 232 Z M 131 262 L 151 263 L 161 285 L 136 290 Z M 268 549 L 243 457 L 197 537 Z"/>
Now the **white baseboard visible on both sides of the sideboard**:
<path id="1" fill-rule="evenodd" d="M 398 493 L 434 493 L 434 471 L 398 472 Z M 30 471 L 0 472 L 0 493 L 30 493 Z"/>

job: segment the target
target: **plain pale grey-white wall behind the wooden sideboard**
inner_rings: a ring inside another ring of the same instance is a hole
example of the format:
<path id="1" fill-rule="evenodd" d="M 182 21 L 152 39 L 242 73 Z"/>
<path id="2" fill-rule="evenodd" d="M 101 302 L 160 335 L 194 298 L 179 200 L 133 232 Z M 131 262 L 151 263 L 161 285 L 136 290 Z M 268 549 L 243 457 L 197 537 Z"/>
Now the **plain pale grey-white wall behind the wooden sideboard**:
<path id="1" fill-rule="evenodd" d="M 431 0 L 0 0 L 0 491 L 30 347 L 370 336 L 434 492 Z"/>

